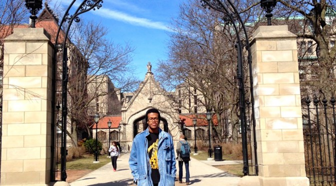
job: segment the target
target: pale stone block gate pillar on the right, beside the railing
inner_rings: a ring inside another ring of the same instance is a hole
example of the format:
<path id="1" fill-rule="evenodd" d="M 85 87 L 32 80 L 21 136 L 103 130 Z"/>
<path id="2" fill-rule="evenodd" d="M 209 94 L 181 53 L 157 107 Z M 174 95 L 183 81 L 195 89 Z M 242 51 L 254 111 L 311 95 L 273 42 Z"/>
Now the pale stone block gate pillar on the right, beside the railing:
<path id="1" fill-rule="evenodd" d="M 251 53 L 260 185 L 309 185 L 296 35 L 287 25 L 260 26 Z"/>

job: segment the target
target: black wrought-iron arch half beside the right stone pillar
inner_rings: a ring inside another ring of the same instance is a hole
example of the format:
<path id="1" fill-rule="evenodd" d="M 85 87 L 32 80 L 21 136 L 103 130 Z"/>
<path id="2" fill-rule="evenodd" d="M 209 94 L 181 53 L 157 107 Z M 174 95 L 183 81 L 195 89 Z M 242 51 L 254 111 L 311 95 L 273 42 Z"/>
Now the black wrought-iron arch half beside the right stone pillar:
<path id="1" fill-rule="evenodd" d="M 244 62 L 244 52 L 243 48 L 247 51 L 247 64 L 248 64 L 248 70 L 249 74 L 252 74 L 251 69 L 251 63 L 252 63 L 252 57 L 251 57 L 251 51 L 249 47 L 248 42 L 248 34 L 246 31 L 246 27 L 244 25 L 244 22 L 242 21 L 239 12 L 237 11 L 236 7 L 230 0 L 201 0 L 202 6 L 204 8 L 212 8 L 215 11 L 219 11 L 223 13 L 222 19 L 233 26 L 234 31 L 236 33 L 237 37 L 237 43 L 236 43 L 236 50 L 237 50 L 237 79 L 238 79 L 238 87 L 239 87 L 239 119 L 241 121 L 241 140 L 242 140 L 242 152 L 243 152 L 243 170 L 242 172 L 244 175 L 251 175 L 249 173 L 248 168 L 248 147 L 247 147 L 247 123 L 252 124 L 252 137 L 253 137 L 253 154 L 251 156 L 254 158 L 252 159 L 252 163 L 254 163 L 254 172 L 255 175 L 258 174 L 258 165 L 257 165 L 257 158 L 256 158 L 256 138 L 255 138 L 255 118 L 254 118 L 254 98 L 253 98 L 253 79 L 251 75 L 249 76 L 249 101 L 251 103 L 251 119 L 247 120 L 246 117 L 246 107 L 247 102 L 245 100 L 245 91 L 244 91 L 244 70 L 243 70 L 243 62 Z M 243 31 L 243 37 L 244 39 L 241 39 L 240 31 L 238 29 L 237 24 L 239 24 L 242 27 Z M 248 103 L 249 104 L 249 103 Z"/>

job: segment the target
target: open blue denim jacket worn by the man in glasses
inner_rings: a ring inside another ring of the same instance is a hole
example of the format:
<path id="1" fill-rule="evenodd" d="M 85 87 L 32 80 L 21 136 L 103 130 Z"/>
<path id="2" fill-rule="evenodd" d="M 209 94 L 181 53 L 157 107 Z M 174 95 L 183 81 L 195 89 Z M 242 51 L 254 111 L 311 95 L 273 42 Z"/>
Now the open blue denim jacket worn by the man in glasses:
<path id="1" fill-rule="evenodd" d="M 133 180 L 137 181 L 137 185 L 152 186 L 151 167 L 147 153 L 149 135 L 148 128 L 138 133 L 132 143 L 129 156 L 129 167 L 132 171 Z M 158 171 L 160 173 L 159 186 L 172 186 L 175 183 L 176 161 L 172 137 L 169 133 L 159 128 L 158 134 Z"/>

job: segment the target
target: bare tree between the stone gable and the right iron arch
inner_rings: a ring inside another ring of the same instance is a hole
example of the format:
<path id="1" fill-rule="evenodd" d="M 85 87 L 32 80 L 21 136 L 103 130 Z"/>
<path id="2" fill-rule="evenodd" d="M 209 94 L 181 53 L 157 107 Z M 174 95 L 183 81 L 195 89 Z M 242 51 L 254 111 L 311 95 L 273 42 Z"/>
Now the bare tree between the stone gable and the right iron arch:
<path id="1" fill-rule="evenodd" d="M 176 93 L 172 98 L 191 113 L 193 107 L 184 102 L 196 90 L 197 106 L 215 111 L 218 125 L 212 125 L 215 129 L 212 133 L 216 133 L 216 139 L 221 141 L 222 134 L 228 134 L 222 132 L 220 118 L 224 113 L 231 112 L 230 121 L 234 128 L 238 126 L 238 89 L 236 37 L 231 27 L 218 17 L 219 13 L 204 9 L 197 0 L 180 5 L 173 28 L 175 32 L 169 43 L 169 59 L 160 62 L 159 78 L 165 88 L 183 89 L 184 93 Z M 237 141 L 237 129 L 234 131 Z"/>

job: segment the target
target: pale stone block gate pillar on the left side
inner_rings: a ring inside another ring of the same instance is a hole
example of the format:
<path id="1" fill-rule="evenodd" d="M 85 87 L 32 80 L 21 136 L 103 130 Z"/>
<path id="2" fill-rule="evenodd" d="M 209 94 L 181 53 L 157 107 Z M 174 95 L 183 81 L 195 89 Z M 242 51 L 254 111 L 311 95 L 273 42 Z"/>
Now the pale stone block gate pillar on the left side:
<path id="1" fill-rule="evenodd" d="M 50 181 L 51 61 L 43 28 L 14 28 L 4 40 L 1 185 Z"/>

